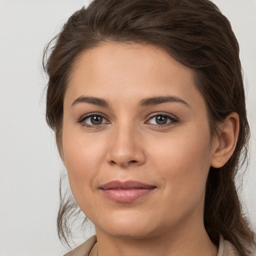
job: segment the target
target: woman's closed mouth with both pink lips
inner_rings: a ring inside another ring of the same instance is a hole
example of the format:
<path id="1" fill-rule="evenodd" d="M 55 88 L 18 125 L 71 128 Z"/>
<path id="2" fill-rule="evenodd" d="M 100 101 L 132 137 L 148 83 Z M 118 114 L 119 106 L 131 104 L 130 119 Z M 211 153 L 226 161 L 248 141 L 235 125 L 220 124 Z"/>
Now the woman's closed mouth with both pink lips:
<path id="1" fill-rule="evenodd" d="M 156 186 L 135 180 L 113 180 L 99 187 L 102 193 L 115 202 L 132 202 L 150 194 Z"/>

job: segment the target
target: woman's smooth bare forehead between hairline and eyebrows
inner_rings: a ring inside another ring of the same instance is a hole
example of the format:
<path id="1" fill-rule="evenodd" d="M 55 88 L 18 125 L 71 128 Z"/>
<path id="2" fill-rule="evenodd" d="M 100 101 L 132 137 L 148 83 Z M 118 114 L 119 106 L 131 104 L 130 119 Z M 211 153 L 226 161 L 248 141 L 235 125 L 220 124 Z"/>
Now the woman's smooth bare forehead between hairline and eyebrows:
<path id="1" fill-rule="evenodd" d="M 65 100 L 80 95 L 110 101 L 171 94 L 201 97 L 191 68 L 179 63 L 165 50 L 153 45 L 102 43 L 76 59 L 69 76 Z"/>

